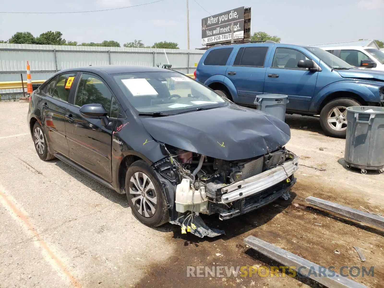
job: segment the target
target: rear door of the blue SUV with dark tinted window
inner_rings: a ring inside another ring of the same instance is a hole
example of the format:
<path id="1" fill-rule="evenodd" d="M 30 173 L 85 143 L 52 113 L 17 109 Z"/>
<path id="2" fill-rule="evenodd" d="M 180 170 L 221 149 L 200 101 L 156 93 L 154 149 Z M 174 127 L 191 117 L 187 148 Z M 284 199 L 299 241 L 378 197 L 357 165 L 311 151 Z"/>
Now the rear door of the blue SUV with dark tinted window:
<path id="1" fill-rule="evenodd" d="M 268 47 L 240 47 L 228 66 L 226 76 L 235 85 L 238 103 L 253 105 L 256 96 L 263 94 L 267 54 Z"/>

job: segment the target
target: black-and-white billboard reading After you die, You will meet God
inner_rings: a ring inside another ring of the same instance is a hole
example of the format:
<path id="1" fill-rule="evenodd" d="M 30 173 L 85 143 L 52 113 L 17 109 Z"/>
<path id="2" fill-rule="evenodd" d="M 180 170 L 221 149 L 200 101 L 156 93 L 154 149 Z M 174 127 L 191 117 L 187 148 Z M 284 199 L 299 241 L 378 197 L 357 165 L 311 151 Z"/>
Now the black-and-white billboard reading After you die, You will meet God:
<path id="1" fill-rule="evenodd" d="M 244 38 L 244 7 L 225 11 L 201 20 L 202 45 L 231 41 L 233 23 L 234 39 Z"/>

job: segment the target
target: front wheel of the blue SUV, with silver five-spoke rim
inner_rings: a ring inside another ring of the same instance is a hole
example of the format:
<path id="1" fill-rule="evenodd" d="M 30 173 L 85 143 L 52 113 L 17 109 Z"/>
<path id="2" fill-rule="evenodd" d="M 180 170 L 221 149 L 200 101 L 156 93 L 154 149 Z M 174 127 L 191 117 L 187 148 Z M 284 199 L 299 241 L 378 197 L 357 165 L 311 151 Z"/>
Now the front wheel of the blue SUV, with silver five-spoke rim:
<path id="1" fill-rule="evenodd" d="M 345 138 L 347 133 L 346 108 L 360 105 L 358 101 L 351 98 L 337 98 L 327 103 L 320 113 L 320 124 L 325 134 Z"/>

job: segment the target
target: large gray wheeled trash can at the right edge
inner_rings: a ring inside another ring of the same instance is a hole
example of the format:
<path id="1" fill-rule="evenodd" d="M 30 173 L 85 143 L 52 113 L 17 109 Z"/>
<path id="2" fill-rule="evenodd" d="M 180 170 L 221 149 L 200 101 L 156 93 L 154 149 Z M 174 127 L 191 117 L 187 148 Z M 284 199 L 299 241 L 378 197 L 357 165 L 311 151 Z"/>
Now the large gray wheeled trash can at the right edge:
<path id="1" fill-rule="evenodd" d="M 384 173 L 384 107 L 347 108 L 347 136 L 344 160 L 346 168 Z"/>

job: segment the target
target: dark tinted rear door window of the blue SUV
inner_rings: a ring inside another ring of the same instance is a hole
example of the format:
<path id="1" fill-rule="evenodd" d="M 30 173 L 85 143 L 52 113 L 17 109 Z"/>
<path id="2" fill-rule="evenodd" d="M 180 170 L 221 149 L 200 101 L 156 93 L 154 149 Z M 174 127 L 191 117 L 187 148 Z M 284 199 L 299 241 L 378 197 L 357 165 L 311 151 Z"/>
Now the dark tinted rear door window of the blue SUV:
<path id="1" fill-rule="evenodd" d="M 240 48 L 233 65 L 264 67 L 268 47 Z"/>

